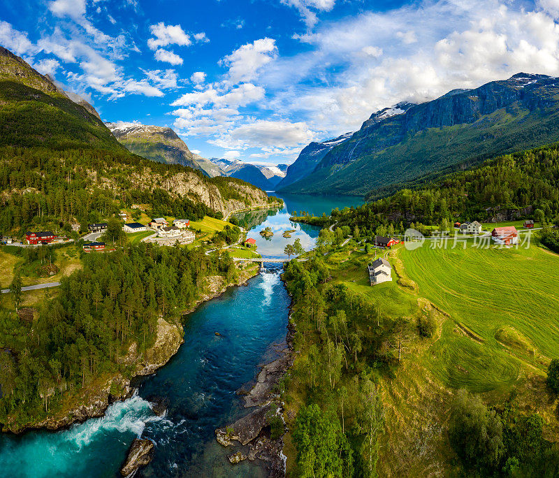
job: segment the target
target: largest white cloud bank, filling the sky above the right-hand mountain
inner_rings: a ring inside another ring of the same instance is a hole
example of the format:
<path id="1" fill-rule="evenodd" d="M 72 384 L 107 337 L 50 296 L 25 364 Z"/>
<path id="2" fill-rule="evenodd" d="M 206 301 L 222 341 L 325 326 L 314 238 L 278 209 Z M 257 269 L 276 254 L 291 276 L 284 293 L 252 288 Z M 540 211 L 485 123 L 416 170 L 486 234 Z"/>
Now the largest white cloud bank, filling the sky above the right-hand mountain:
<path id="1" fill-rule="evenodd" d="M 427 101 L 519 71 L 558 76 L 559 25 L 547 1 L 544 11 L 541 2 L 525 10 L 508 0 L 439 0 L 321 24 L 296 37 L 310 51 L 261 71 L 267 107 L 333 134 L 398 101 Z M 370 45 L 382 56 L 367 55 Z"/>

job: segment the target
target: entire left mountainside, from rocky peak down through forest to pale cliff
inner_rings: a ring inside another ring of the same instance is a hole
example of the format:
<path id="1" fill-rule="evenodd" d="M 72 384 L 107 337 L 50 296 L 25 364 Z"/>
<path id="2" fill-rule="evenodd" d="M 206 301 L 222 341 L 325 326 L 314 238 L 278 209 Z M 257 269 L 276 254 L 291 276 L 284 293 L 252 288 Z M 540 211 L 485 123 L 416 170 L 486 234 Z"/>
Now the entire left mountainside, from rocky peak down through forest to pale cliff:
<path id="1" fill-rule="evenodd" d="M 0 131 L 0 233 L 54 218 L 87 224 L 133 203 L 159 215 L 226 215 L 268 202 L 241 180 L 132 154 L 96 115 L 4 48 Z"/>

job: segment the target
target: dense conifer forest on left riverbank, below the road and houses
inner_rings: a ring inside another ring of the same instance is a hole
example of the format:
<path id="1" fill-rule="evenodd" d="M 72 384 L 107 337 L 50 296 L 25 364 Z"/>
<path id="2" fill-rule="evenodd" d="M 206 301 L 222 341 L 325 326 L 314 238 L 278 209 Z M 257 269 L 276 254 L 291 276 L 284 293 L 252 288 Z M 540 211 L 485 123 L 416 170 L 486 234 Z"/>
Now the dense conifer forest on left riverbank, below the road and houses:
<path id="1" fill-rule="evenodd" d="M 127 370 L 118 358 L 131 342 L 152 345 L 157 317 L 173 317 L 203 292 L 204 278 L 235 278 L 228 254 L 140 243 L 112 254 L 84 254 L 83 269 L 64 278 L 34 321 L 12 308 L 21 298 L 0 297 L 0 423 L 27 423 L 59 405 L 104 372 Z"/>

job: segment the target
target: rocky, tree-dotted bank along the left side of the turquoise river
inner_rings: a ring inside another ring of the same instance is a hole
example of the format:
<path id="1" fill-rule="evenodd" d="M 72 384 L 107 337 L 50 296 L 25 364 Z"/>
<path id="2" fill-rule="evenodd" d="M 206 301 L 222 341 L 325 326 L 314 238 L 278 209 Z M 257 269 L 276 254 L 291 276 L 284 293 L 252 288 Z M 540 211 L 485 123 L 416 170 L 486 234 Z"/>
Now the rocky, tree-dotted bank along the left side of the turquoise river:
<path id="1" fill-rule="evenodd" d="M 50 417 L 34 422 L 30 421 L 21 426 L 16 426 L 15 423 L 8 421 L 1 424 L 0 433 L 23 435 L 33 430 L 57 432 L 68 429 L 74 424 L 84 423 L 89 419 L 103 417 L 110 405 L 127 400 L 133 395 L 137 389 L 133 384 L 138 383 L 138 380 L 143 377 L 154 374 L 175 356 L 180 346 L 184 343 L 182 317 L 194 312 L 201 304 L 221 296 L 229 287 L 240 287 L 258 274 L 259 269 L 257 267 L 243 269 L 240 270 L 238 279 L 235 282 L 229 283 L 225 283 L 223 276 L 205 277 L 207 287 L 190 309 L 182 311 L 178 317 L 173 318 L 174 320 L 159 317 L 155 343 L 146 351 L 145 356 L 138 356 L 136 354 L 137 345 L 136 342 L 133 342 L 129 347 L 128 353 L 119 359 L 121 364 L 136 367 L 136 370 L 133 371 L 130 377 L 124 377 L 122 372 L 117 372 L 108 378 L 98 378 L 87 387 L 85 391 L 86 397 L 82 394 L 81 396 L 66 398 L 70 402 L 77 402 L 75 405 L 70 405 L 69 410 L 55 412 Z M 111 391 L 115 390 L 118 393 L 111 393 Z"/>

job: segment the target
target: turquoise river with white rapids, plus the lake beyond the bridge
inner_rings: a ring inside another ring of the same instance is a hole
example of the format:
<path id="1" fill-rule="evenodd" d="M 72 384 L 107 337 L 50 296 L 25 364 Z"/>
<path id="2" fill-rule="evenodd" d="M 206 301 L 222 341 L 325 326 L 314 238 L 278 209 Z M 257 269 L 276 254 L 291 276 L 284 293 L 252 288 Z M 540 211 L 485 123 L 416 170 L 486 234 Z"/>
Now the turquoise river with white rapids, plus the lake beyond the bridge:
<path id="1" fill-rule="evenodd" d="M 282 210 L 240 217 L 263 256 L 284 256 L 285 245 L 296 238 L 305 249 L 314 245 L 318 229 L 289 222 L 293 211 L 321 215 L 363 202 L 346 196 L 282 198 Z M 259 235 L 266 226 L 275 232 L 271 240 Z M 282 237 L 287 229 L 296 230 L 291 239 Z M 279 272 L 261 273 L 247 287 L 231 288 L 189 314 L 179 352 L 135 396 L 111 405 L 104 417 L 56 433 L 1 435 L 0 476 L 119 476 L 132 440 L 141 436 L 156 444 L 145 477 L 260 477 L 260 468 L 251 463 L 233 467 L 226 461 L 232 451 L 217 444 L 214 430 L 247 412 L 235 391 L 284 346 L 290 300 Z M 166 417 L 153 414 L 152 396 L 168 398 Z"/>

